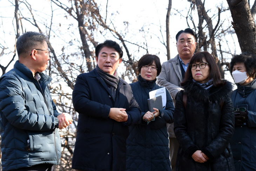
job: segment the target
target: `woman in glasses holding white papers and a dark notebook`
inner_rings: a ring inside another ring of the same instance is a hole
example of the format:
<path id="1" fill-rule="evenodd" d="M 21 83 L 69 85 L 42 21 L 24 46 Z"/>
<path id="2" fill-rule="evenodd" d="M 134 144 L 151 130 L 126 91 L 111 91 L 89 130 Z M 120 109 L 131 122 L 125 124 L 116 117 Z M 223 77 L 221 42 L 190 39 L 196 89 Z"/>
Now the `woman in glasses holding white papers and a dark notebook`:
<path id="1" fill-rule="evenodd" d="M 166 123 L 173 123 L 174 105 L 169 91 L 156 84 L 156 77 L 161 72 L 161 68 L 158 56 L 144 55 L 138 62 L 140 72 L 138 81 L 130 84 L 142 112 L 140 121 L 129 127 L 127 171 L 171 170 Z M 166 100 L 162 102 L 164 108 L 153 108 L 151 111 L 148 106 L 149 92 L 158 89 L 164 90 L 166 96 Z"/>

